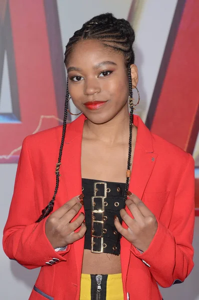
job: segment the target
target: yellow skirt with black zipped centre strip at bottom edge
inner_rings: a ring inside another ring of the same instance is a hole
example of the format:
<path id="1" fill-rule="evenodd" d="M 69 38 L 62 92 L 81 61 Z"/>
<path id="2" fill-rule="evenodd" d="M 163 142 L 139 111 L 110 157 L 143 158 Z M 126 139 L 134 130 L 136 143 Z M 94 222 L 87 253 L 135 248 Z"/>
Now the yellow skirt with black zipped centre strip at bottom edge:
<path id="1" fill-rule="evenodd" d="M 122 285 L 122 274 L 109 274 L 102 275 L 103 279 L 100 285 L 102 293 L 100 295 L 101 300 L 123 300 L 123 285 Z M 81 290 L 80 300 L 95 300 L 98 299 L 96 296 L 97 281 L 96 275 L 82 274 L 81 275 Z"/>

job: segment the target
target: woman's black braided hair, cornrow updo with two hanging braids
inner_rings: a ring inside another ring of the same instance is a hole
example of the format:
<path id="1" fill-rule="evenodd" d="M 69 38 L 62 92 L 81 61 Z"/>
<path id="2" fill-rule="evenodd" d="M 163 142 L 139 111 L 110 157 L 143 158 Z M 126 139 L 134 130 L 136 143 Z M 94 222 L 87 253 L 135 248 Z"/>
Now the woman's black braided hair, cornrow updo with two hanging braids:
<path id="1" fill-rule="evenodd" d="M 74 45 L 78 43 L 80 40 L 84 40 L 84 39 L 99 40 L 100 42 L 102 42 L 104 47 L 110 47 L 114 51 L 119 51 L 124 55 L 125 65 L 127 67 L 128 81 L 129 81 L 129 96 L 132 97 L 133 93 L 132 93 L 130 65 L 134 63 L 134 51 L 132 49 L 132 44 L 135 39 L 135 33 L 130 23 L 125 19 L 115 18 L 112 15 L 112 13 L 103 13 L 93 17 L 92 19 L 84 23 L 81 29 L 75 31 L 74 35 L 69 39 L 69 42 L 66 45 L 65 59 L 64 59 L 66 65 Z M 42 214 L 36 222 L 40 222 L 42 219 L 48 216 L 54 207 L 54 202 L 59 187 L 59 176 L 60 176 L 59 169 L 61 165 L 64 138 L 66 133 L 68 101 L 69 101 L 69 88 L 68 88 L 68 78 L 67 78 L 67 91 L 66 91 L 66 100 L 65 100 L 65 109 L 64 109 L 62 139 L 61 139 L 58 162 L 56 164 L 55 191 L 52 200 L 42 210 Z M 127 191 L 129 186 L 129 180 L 130 180 L 132 128 L 133 128 L 133 108 L 131 108 L 130 110 L 129 148 L 128 148 L 127 177 L 126 177 L 126 185 L 124 191 L 124 200 L 126 200 L 127 197 Z"/>

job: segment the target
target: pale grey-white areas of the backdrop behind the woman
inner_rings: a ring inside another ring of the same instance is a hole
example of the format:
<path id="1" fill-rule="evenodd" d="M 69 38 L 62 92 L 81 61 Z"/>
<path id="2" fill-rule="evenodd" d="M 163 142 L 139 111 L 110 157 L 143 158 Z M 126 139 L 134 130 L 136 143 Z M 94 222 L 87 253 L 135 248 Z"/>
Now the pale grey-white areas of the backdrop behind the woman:
<path id="1" fill-rule="evenodd" d="M 57 2 L 64 52 L 65 44 L 69 37 L 75 30 L 82 26 L 83 22 L 102 12 L 113 12 L 116 17 L 127 18 L 132 1 L 57 0 Z M 136 28 L 136 43 L 134 49 L 136 64 L 139 68 L 139 90 L 142 102 L 139 109 L 136 110 L 136 113 L 140 114 L 142 119 L 145 120 L 175 10 L 176 0 L 140 0 L 139 5 L 141 5 L 139 6 L 139 21 L 136 19 L 134 23 Z M 9 107 L 10 90 L 7 74 L 7 65 L 5 63 L 4 86 L 2 87 L 1 97 L 4 97 L 4 109 L 7 105 L 9 110 L 11 109 Z M 74 107 L 71 109 L 74 111 Z M 2 230 L 8 216 L 16 168 L 16 164 L 0 164 L 0 226 Z M 161 289 L 164 300 L 199 300 L 199 217 L 195 219 L 193 244 L 195 248 L 195 267 L 193 271 L 183 284 L 176 284 L 171 288 Z M 9 260 L 3 252 L 2 247 L 0 248 L 0 260 L 1 299 L 28 299 L 39 269 L 28 270 L 19 265 L 16 261 Z"/>

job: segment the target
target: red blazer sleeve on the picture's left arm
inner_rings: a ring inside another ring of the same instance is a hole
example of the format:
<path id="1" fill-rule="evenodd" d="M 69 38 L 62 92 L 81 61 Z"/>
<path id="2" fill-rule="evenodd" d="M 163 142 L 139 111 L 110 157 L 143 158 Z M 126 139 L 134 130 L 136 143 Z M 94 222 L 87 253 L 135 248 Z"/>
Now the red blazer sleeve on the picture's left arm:
<path id="1" fill-rule="evenodd" d="M 8 220 L 4 228 L 3 247 L 10 259 L 27 268 L 50 265 L 66 260 L 63 255 L 70 250 L 56 252 L 45 233 L 46 219 L 40 223 L 35 205 L 34 176 L 26 137 L 17 168 L 14 194 Z M 54 259 L 54 260 L 53 260 Z M 49 263 L 50 261 L 50 263 Z"/>

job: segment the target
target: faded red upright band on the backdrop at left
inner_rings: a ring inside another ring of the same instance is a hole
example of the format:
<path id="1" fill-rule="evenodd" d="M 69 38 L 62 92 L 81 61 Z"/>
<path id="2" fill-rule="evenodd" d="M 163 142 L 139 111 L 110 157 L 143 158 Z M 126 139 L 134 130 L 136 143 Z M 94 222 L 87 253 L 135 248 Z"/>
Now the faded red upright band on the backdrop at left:
<path id="1" fill-rule="evenodd" d="M 37 128 L 41 115 L 57 116 L 43 0 L 10 0 L 9 5 L 22 122 L 0 125 L 0 139 L 6 140 L 0 154 L 19 147 Z M 45 119 L 42 129 L 57 124 L 56 119 Z"/>

